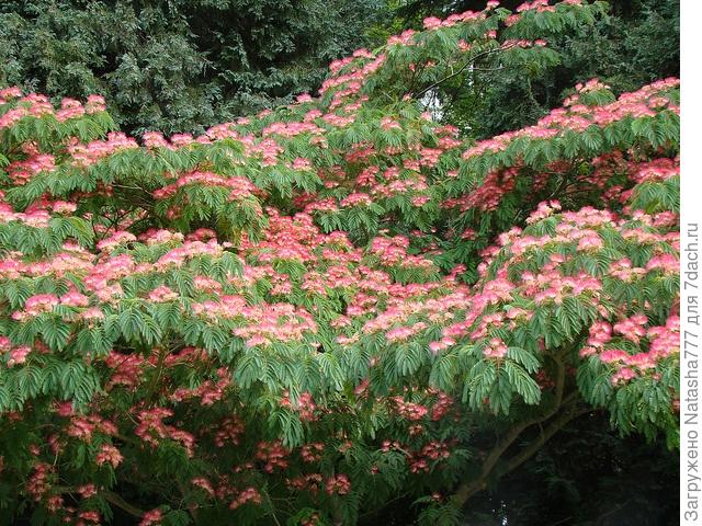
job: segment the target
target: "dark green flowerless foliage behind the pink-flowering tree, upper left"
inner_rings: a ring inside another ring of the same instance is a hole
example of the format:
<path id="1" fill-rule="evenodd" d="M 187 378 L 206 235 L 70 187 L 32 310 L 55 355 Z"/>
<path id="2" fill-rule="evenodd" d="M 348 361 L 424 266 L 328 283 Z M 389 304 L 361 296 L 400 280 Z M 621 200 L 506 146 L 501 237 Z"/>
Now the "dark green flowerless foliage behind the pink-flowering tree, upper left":
<path id="1" fill-rule="evenodd" d="M 0 1 L 0 85 L 105 95 L 125 132 L 205 127 L 312 91 L 381 0 Z"/>

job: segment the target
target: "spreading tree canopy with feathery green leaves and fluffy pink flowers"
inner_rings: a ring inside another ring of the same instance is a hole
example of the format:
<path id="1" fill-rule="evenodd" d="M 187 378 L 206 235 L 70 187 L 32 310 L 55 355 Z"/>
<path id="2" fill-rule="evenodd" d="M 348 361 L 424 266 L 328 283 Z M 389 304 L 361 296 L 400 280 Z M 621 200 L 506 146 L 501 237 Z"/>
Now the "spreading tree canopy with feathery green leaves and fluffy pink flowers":
<path id="1" fill-rule="evenodd" d="M 678 80 L 422 105 L 601 13 L 428 18 L 197 137 L 0 91 L 2 521 L 457 524 L 582 415 L 676 447 Z"/>

